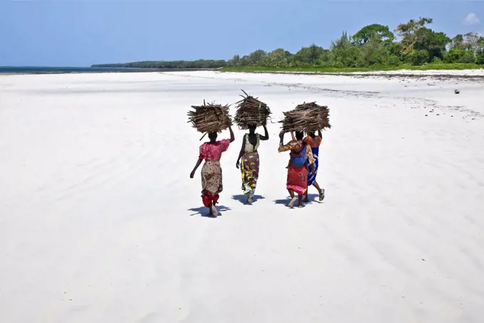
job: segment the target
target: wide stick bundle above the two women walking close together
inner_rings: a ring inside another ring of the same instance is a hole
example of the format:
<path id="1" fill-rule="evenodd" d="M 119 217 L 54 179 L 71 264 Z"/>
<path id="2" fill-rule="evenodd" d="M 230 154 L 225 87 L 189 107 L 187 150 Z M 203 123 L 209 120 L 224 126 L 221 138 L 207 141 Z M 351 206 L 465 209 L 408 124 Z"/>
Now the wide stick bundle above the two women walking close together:
<path id="1" fill-rule="evenodd" d="M 317 105 L 316 102 L 302 103 L 294 110 L 283 112 L 282 123 L 283 132 L 310 131 L 316 132 L 330 125 L 330 110 L 327 105 Z"/>

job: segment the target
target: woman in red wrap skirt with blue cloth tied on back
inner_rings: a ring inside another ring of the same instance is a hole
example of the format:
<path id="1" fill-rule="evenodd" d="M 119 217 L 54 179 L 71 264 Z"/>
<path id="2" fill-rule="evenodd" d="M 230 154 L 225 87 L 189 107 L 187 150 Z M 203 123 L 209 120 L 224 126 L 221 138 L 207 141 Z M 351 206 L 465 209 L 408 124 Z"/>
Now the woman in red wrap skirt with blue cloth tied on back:
<path id="1" fill-rule="evenodd" d="M 279 137 L 280 144 L 278 152 L 290 151 L 288 180 L 286 182 L 286 189 L 288 189 L 289 195 L 291 197 L 288 206 L 290 208 L 293 208 L 296 200 L 296 193 L 298 194 L 298 207 L 302 208 L 302 196 L 305 195 L 307 191 L 308 166 L 306 164 L 306 160 L 308 159 L 310 161 L 310 164 L 312 165 L 315 162 L 315 159 L 312 157 L 310 147 L 302 142 L 302 139 L 304 138 L 303 132 L 296 132 L 295 140 L 288 142 L 288 144 L 283 144 L 283 132 L 279 134 Z M 313 171 L 313 169 L 311 170 Z"/>

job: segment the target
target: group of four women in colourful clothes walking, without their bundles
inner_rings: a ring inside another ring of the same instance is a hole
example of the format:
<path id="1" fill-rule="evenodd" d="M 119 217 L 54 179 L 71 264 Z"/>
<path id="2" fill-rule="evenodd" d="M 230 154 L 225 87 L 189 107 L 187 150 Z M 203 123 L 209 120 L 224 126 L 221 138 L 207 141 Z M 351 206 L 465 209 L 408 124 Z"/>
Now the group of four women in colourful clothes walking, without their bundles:
<path id="1" fill-rule="evenodd" d="M 261 140 L 268 140 L 267 127 L 263 125 L 264 135 L 256 133 L 256 126 L 250 127 L 249 132 L 244 134 L 241 151 L 238 154 L 236 167 L 241 169 L 242 191 L 247 196 L 248 203 L 253 203 L 259 176 L 259 154 L 258 147 Z M 222 169 L 220 158 L 226 152 L 229 145 L 235 140 L 233 130 L 228 127 L 230 139 L 217 140 L 217 133 L 209 133 L 209 142 L 201 144 L 199 148 L 199 159 L 191 171 L 190 178 L 194 178 L 196 169 L 205 161 L 201 168 L 201 198 L 206 208 L 209 208 L 210 216 L 218 216 L 216 204 L 219 202 L 219 194 L 223 191 Z M 307 196 L 308 186 L 315 186 L 319 193 L 319 200 L 325 198 L 325 190 L 317 184 L 316 175 L 318 169 L 319 147 L 322 134 L 314 132 L 291 133 L 292 140 L 287 144 L 283 143 L 284 134 L 281 132 L 278 152 L 289 152 L 288 177 L 286 189 L 290 194 L 288 206 L 293 208 L 296 199 L 298 207 L 302 208 L 302 201 L 309 201 Z M 298 195 L 296 197 L 296 194 Z"/>

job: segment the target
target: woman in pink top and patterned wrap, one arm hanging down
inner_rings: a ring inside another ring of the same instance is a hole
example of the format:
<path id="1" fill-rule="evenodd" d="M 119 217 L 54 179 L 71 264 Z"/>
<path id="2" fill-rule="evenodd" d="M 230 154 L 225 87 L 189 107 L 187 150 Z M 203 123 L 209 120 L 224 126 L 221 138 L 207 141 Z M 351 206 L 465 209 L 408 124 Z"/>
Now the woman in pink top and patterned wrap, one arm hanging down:
<path id="1" fill-rule="evenodd" d="M 190 174 L 190 178 L 193 179 L 196 169 L 205 159 L 205 164 L 201 167 L 201 199 L 204 206 L 209 208 L 209 215 L 214 217 L 219 215 L 215 204 L 219 201 L 219 193 L 223 191 L 220 157 L 222 152 L 228 149 L 228 145 L 235 140 L 230 126 L 228 131 L 230 131 L 230 139 L 219 141 L 217 141 L 216 132 L 209 133 L 210 142 L 205 142 L 200 146 L 199 160 L 196 161 L 194 170 Z"/>

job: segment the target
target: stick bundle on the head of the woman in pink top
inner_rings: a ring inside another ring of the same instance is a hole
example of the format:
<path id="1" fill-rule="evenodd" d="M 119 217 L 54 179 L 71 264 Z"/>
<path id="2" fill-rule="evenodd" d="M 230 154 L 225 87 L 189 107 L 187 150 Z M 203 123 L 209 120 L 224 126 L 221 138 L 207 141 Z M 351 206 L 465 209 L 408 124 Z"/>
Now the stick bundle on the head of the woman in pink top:
<path id="1" fill-rule="evenodd" d="M 217 105 L 215 103 L 204 105 L 192 105 L 194 111 L 189 111 L 189 121 L 192 127 L 199 132 L 222 132 L 229 125 L 232 125 L 232 117 L 229 111 L 229 105 Z"/>

